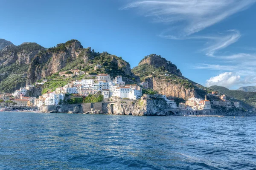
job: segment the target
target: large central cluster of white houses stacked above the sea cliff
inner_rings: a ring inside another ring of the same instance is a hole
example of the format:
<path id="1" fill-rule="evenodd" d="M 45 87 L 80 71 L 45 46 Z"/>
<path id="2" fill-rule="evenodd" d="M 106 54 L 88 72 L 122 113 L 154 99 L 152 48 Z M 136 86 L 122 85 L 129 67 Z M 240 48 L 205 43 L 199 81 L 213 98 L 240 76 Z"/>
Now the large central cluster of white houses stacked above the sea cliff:
<path id="1" fill-rule="evenodd" d="M 64 87 L 56 88 L 55 91 L 42 94 L 36 99 L 35 105 L 58 105 L 64 100 L 65 94 L 75 94 L 77 97 L 88 96 L 101 92 L 105 99 L 118 97 L 136 100 L 142 96 L 142 88 L 139 85 L 125 85 L 122 76 L 111 80 L 108 74 L 99 74 L 96 79 L 82 79 L 68 83 Z"/>

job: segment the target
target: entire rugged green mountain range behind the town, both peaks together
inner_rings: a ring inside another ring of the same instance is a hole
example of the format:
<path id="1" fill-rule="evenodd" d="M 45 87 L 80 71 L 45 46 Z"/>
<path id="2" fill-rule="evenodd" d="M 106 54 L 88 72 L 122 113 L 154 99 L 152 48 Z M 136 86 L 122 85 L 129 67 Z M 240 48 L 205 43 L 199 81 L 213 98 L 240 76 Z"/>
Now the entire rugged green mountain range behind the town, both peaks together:
<path id="1" fill-rule="evenodd" d="M 172 62 L 151 54 L 144 57 L 131 70 L 130 64 L 108 52 L 95 52 L 84 48 L 78 40 L 70 40 L 52 48 L 44 48 L 35 42 L 6 46 L 0 51 L 0 91 L 13 92 L 41 79 L 49 81 L 42 92 L 53 91 L 70 80 L 60 77 L 59 71 L 80 69 L 87 74 L 105 73 L 112 78 L 121 75 L 125 82 L 146 81 L 150 88 L 167 97 L 204 98 L 208 89 L 182 76 Z M 85 75 L 70 79 L 82 79 Z"/>

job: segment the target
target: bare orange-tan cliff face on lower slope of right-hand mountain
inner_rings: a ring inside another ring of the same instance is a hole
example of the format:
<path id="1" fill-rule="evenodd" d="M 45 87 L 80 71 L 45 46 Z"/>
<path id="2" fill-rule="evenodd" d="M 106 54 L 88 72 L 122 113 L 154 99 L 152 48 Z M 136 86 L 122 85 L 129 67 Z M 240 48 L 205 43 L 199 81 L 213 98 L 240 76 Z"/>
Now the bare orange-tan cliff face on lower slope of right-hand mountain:
<path id="1" fill-rule="evenodd" d="M 153 78 L 153 89 L 159 94 L 188 99 L 196 97 L 194 88 L 185 88 L 183 85 L 166 82 L 163 79 Z"/>

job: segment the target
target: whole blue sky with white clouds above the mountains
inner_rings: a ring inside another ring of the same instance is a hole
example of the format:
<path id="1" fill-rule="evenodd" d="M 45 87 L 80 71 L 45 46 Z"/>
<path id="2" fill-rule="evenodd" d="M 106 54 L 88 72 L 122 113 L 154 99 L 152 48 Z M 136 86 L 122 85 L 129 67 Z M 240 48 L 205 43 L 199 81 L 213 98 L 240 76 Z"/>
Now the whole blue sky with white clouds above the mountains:
<path id="1" fill-rule="evenodd" d="M 158 54 L 202 85 L 256 85 L 256 0 L 1 0 L 0 38 L 77 39 L 138 65 Z"/>

